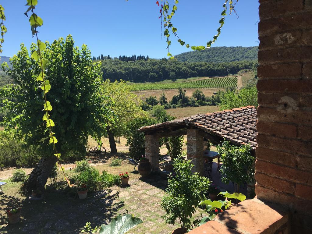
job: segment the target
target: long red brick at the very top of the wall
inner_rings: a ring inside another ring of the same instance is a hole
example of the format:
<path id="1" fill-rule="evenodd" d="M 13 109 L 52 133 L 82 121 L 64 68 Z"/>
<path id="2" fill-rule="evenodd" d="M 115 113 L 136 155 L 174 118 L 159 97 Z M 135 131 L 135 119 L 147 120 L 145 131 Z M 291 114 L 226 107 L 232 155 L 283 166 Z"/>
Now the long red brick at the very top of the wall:
<path id="1" fill-rule="evenodd" d="M 292 0 L 292 1 L 271 1 L 266 4 L 260 4 L 259 6 L 259 16 L 260 20 L 266 18 L 274 18 L 285 13 L 294 13 L 303 9 L 302 0 Z"/>

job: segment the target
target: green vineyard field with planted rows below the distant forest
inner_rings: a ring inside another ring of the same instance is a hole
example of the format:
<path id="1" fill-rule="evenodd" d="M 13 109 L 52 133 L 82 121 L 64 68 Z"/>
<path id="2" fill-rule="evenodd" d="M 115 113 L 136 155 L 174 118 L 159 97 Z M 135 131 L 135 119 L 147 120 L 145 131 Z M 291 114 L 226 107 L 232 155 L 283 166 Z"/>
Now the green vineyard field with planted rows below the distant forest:
<path id="1" fill-rule="evenodd" d="M 191 88 L 225 88 L 227 86 L 236 86 L 237 77 L 219 77 L 219 78 L 207 78 L 201 80 L 193 80 L 186 82 L 168 82 L 168 83 L 136 83 L 132 84 L 132 91 L 139 90 L 165 90 L 165 89 L 177 89 L 179 87 L 183 89 Z"/>

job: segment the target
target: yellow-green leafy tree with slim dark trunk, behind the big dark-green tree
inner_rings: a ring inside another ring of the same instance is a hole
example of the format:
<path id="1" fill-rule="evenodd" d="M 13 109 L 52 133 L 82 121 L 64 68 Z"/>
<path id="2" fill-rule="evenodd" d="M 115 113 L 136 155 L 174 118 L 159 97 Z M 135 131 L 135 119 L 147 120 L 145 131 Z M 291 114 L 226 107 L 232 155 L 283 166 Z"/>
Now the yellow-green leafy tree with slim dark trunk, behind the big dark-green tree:
<path id="1" fill-rule="evenodd" d="M 110 100 L 114 103 L 112 110 L 116 118 L 114 121 L 107 122 L 106 130 L 110 141 L 110 152 L 116 154 L 115 137 L 125 134 L 128 121 L 134 119 L 138 115 L 145 114 L 142 108 L 139 107 L 142 100 L 137 95 L 130 92 L 130 86 L 127 85 L 124 80 L 120 82 L 117 80 L 115 82 L 105 80 L 102 86 L 103 94 L 109 96 Z"/>

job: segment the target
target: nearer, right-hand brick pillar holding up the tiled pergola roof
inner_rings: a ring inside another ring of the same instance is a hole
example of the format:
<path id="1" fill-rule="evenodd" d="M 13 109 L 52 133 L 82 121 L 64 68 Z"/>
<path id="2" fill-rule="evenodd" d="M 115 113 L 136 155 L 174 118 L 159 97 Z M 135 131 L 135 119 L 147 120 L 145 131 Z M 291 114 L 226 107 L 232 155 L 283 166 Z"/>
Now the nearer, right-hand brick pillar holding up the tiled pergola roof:
<path id="1" fill-rule="evenodd" d="M 192 160 L 194 164 L 192 172 L 204 174 L 204 137 L 199 129 L 187 129 L 188 139 L 188 160 Z"/>

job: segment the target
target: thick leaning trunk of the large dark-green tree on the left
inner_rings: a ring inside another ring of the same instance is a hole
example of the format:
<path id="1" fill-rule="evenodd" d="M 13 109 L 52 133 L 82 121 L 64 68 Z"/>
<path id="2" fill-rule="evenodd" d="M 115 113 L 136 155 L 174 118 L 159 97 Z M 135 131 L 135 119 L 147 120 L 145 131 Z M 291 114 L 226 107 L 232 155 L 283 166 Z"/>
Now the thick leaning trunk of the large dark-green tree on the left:
<path id="1" fill-rule="evenodd" d="M 34 189 L 38 189 L 43 192 L 46 181 L 56 162 L 57 158 L 54 155 L 43 156 L 32 170 L 28 180 L 24 183 L 23 190 L 31 192 Z"/>

